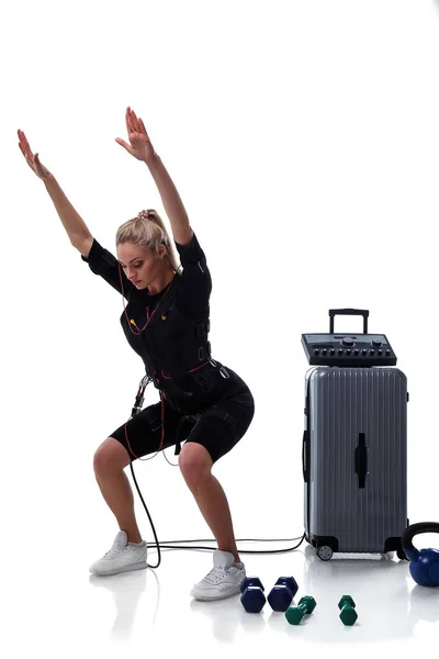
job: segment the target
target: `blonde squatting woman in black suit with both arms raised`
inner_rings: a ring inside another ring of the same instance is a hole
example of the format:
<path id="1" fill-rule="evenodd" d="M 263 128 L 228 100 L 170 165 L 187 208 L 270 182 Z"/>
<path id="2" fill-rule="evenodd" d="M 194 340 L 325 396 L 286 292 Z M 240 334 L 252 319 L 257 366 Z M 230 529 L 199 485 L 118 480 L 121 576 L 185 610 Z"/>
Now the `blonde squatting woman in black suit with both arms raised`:
<path id="1" fill-rule="evenodd" d="M 170 221 L 182 271 L 154 210 L 142 211 L 117 230 L 117 259 L 104 249 L 19 131 L 20 148 L 44 181 L 70 243 L 90 269 L 127 301 L 121 316 L 123 331 L 142 357 L 146 377 L 160 393 L 160 402 L 139 411 L 111 433 L 94 454 L 95 478 L 120 532 L 110 551 L 90 571 L 116 574 L 146 568 L 147 545 L 137 526 L 124 469 L 136 458 L 176 445 L 181 473 L 217 543 L 214 567 L 193 587 L 191 595 L 217 600 L 238 593 L 246 574 L 227 499 L 212 467 L 246 433 L 255 412 L 254 399 L 233 370 L 211 357 L 207 334 L 212 282 L 205 255 L 142 119 L 130 108 L 126 127 L 130 144 L 121 138 L 116 142 L 147 165 Z"/>

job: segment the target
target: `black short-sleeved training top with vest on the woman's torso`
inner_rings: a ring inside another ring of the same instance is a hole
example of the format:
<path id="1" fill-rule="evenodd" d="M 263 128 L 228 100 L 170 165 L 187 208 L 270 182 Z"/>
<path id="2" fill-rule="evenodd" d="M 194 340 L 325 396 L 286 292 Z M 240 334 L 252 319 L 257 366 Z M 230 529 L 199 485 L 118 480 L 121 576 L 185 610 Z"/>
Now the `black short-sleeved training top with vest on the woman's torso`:
<path id="1" fill-rule="evenodd" d="M 95 239 L 88 257 L 81 258 L 125 297 L 127 304 L 121 324 L 154 386 L 177 410 L 192 411 L 228 389 L 233 378 L 211 357 L 211 279 L 205 255 L 195 234 L 190 244 L 176 243 L 176 247 L 183 275 L 175 275 L 168 287 L 154 295 L 137 290 L 123 272 L 121 275 L 117 259 Z M 150 321 L 143 330 L 147 317 Z"/>

